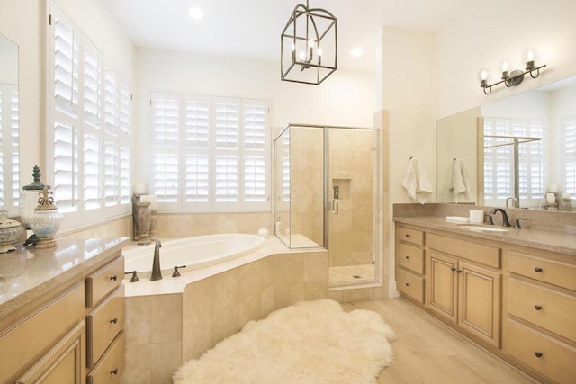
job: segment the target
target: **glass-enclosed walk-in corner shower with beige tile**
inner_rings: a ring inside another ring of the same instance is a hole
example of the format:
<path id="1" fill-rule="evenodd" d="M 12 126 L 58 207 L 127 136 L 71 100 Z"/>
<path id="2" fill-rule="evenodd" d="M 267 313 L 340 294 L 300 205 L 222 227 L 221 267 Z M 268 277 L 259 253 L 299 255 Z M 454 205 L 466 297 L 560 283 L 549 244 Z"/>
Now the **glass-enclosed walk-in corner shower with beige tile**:
<path id="1" fill-rule="evenodd" d="M 329 283 L 380 279 L 378 130 L 291 124 L 275 139 L 275 235 L 329 250 Z"/>

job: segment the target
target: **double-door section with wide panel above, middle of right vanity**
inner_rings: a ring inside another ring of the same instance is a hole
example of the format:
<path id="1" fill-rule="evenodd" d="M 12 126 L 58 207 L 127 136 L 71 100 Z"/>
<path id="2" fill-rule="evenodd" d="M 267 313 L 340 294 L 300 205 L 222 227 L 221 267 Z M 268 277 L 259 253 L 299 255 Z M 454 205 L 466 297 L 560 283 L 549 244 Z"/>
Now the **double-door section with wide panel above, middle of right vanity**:
<path id="1" fill-rule="evenodd" d="M 500 347 L 500 248 L 435 234 L 427 240 L 428 309 Z"/>

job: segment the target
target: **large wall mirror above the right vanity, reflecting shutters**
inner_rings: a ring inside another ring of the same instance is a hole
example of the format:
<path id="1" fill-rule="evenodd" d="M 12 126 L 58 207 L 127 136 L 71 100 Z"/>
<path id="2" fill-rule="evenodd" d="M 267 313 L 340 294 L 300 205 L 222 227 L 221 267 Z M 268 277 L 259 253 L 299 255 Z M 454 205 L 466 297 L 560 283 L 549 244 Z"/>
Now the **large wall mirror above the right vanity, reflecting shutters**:
<path id="1" fill-rule="evenodd" d="M 467 195 L 455 193 L 456 159 Z M 437 201 L 572 210 L 576 76 L 438 120 Z"/>

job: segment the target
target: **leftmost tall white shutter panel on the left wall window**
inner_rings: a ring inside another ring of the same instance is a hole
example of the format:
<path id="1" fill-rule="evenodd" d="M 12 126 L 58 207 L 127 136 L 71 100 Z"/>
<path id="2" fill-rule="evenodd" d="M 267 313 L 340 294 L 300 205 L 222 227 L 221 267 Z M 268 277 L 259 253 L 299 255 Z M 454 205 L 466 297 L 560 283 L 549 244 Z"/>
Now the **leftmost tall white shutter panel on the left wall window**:
<path id="1" fill-rule="evenodd" d="M 78 211 L 81 125 L 79 111 L 80 33 L 54 7 L 50 55 L 53 63 L 52 189 L 58 210 Z"/>

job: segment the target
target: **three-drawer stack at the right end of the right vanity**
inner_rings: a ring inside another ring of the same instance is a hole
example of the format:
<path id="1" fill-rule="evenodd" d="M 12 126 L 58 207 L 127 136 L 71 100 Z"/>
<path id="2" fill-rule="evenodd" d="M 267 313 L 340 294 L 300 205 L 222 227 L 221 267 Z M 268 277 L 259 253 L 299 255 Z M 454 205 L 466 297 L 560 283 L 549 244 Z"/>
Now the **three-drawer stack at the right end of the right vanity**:
<path id="1" fill-rule="evenodd" d="M 505 350 L 556 382 L 576 378 L 576 264 L 530 249 L 508 253 Z"/>

